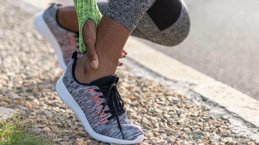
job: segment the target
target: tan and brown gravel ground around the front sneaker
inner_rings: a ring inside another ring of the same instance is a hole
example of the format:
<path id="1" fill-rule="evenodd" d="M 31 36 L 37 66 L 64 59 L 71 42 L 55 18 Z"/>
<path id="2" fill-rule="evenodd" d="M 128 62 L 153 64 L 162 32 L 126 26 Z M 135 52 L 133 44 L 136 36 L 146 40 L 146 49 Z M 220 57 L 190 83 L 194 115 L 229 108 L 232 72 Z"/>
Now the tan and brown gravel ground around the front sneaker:
<path id="1" fill-rule="evenodd" d="M 36 122 L 29 130 L 53 139 L 54 144 L 104 143 L 94 140 L 67 105 L 55 84 L 63 74 L 51 46 L 34 28 L 34 16 L 0 0 L 0 106 L 15 109 Z M 133 74 L 126 66 L 117 70 L 124 108 L 144 131 L 147 145 L 253 145 L 245 134 L 232 132 L 228 120 L 210 116 L 196 104 L 162 83 Z"/>

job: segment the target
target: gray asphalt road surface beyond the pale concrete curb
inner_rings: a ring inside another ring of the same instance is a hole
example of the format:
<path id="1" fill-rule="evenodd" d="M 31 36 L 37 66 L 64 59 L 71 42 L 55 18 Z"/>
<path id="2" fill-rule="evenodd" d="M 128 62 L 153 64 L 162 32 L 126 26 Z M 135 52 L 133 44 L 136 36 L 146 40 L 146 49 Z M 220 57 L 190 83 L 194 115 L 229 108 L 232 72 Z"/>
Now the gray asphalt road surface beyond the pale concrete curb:
<path id="1" fill-rule="evenodd" d="M 259 100 L 259 1 L 185 0 L 187 39 L 155 49 Z"/>

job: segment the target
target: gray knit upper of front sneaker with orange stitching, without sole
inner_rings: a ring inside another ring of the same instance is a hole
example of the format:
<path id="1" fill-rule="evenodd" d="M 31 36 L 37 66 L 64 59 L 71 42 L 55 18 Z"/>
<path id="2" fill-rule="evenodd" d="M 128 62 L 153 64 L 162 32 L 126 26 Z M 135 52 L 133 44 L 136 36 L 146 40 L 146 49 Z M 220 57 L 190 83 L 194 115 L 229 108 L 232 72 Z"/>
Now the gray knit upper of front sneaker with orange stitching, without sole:
<path id="1" fill-rule="evenodd" d="M 114 74 L 90 84 L 79 83 L 74 76 L 76 61 L 77 58 L 71 60 L 62 80 L 91 128 L 106 137 L 129 141 L 143 135 L 142 129 L 127 119 L 124 102 L 117 90 L 119 77 Z"/>

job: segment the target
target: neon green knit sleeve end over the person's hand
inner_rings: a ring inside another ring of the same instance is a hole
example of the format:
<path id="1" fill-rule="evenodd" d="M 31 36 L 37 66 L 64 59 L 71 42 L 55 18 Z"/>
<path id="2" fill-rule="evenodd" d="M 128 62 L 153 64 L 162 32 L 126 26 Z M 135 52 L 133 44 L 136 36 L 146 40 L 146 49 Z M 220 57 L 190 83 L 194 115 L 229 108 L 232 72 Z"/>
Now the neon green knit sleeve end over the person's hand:
<path id="1" fill-rule="evenodd" d="M 87 51 L 83 39 L 83 26 L 87 19 L 92 19 L 96 28 L 98 27 L 102 14 L 97 7 L 95 0 L 74 0 L 75 8 L 77 11 L 77 18 L 79 23 L 79 49 L 83 54 Z"/>

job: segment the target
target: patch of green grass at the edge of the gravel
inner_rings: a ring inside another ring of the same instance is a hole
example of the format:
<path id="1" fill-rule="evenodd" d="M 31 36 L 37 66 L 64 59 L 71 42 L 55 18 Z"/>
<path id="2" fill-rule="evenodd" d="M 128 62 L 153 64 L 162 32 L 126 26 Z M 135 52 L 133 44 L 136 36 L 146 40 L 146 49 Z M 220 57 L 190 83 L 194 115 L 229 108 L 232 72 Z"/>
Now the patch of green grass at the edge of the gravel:
<path id="1" fill-rule="evenodd" d="M 3 115 L 3 114 L 1 114 Z M 0 116 L 1 116 L 0 115 Z M 6 119 L 0 119 L 1 145 L 45 145 L 50 141 L 42 135 L 31 134 L 28 123 L 19 113 L 12 113 Z"/>

